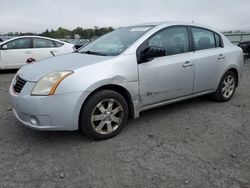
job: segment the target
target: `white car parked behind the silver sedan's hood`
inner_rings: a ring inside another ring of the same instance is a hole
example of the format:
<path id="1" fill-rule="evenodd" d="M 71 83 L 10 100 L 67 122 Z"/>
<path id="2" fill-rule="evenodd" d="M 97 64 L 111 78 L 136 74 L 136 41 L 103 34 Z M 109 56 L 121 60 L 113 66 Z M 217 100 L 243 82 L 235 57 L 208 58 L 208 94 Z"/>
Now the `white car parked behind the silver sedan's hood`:
<path id="1" fill-rule="evenodd" d="M 39 36 L 12 38 L 0 44 L 0 69 L 16 69 L 28 63 L 74 51 L 73 44 L 52 38 Z"/>

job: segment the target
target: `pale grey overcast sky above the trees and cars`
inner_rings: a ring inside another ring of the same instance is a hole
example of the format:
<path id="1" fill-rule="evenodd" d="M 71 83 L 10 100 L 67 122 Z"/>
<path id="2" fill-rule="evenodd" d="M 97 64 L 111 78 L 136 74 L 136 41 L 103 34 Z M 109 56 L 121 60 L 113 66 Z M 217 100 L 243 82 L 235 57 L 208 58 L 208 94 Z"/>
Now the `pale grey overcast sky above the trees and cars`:
<path id="1" fill-rule="evenodd" d="M 250 0 L 0 0 L 0 33 L 188 21 L 250 30 Z"/>

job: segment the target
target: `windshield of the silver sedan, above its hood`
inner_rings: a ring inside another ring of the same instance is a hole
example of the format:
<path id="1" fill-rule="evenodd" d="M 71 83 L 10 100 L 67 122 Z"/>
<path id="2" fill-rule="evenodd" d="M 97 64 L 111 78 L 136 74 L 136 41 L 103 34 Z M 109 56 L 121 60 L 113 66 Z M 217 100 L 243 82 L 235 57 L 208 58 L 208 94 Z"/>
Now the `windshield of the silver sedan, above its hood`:
<path id="1" fill-rule="evenodd" d="M 126 50 L 152 26 L 124 27 L 108 33 L 89 45 L 81 48 L 79 53 L 103 56 L 116 56 Z"/>

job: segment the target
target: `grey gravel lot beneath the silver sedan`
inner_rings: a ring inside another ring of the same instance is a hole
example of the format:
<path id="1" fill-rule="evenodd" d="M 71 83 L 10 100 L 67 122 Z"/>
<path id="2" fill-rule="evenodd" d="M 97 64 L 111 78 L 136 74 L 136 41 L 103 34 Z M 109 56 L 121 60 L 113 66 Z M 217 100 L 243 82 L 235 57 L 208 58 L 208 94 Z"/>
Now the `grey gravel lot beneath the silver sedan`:
<path id="1" fill-rule="evenodd" d="M 22 126 L 0 74 L 0 187 L 250 187 L 250 61 L 227 103 L 200 97 L 149 110 L 117 137 Z"/>

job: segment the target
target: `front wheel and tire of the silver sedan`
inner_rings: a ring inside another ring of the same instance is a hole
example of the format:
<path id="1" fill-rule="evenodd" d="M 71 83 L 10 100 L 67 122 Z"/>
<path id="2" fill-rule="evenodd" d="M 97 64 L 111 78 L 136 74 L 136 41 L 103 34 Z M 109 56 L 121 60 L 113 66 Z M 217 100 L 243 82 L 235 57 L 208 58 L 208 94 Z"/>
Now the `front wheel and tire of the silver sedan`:
<path id="1" fill-rule="evenodd" d="M 124 97 L 111 90 L 94 93 L 80 114 L 80 128 L 91 139 L 103 140 L 117 135 L 128 120 L 128 104 Z"/>

